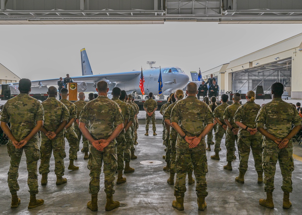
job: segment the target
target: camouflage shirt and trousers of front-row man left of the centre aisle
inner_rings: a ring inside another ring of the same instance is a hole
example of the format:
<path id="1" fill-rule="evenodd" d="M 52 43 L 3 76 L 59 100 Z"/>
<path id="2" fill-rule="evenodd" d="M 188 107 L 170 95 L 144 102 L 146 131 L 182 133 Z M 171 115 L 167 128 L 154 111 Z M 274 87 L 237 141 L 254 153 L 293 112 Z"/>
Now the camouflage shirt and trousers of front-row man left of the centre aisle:
<path id="1" fill-rule="evenodd" d="M 93 139 L 107 139 L 113 132 L 114 126 L 124 122 L 118 104 L 107 96 L 99 95 L 89 101 L 80 115 L 80 122 L 90 125 L 89 132 Z M 115 171 L 117 170 L 117 154 L 115 142 L 112 141 L 103 151 L 98 151 L 89 143 L 87 167 L 90 170 L 89 193 L 98 194 L 100 191 L 100 174 L 104 162 L 105 193 L 114 194 Z"/>

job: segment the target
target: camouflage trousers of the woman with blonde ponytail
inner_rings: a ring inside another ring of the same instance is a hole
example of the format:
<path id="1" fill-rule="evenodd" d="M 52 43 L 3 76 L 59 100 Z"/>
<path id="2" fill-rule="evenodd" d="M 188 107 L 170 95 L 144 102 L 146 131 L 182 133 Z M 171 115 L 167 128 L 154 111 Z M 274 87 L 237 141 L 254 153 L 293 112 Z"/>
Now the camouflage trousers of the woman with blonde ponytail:
<path id="1" fill-rule="evenodd" d="M 249 153 L 252 154 L 255 161 L 255 169 L 257 172 L 262 170 L 262 136 L 243 136 L 239 135 L 237 139 L 238 154 L 240 155 L 239 170 L 246 172 L 248 168 Z"/>

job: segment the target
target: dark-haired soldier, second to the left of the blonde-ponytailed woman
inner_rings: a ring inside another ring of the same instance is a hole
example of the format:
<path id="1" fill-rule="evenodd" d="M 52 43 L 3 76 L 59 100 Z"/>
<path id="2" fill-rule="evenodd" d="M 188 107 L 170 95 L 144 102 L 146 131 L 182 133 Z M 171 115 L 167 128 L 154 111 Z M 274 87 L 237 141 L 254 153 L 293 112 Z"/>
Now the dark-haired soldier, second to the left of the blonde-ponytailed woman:
<path id="1" fill-rule="evenodd" d="M 213 98 L 213 97 L 212 97 Z M 216 97 L 214 97 L 216 98 Z M 214 117 L 215 121 L 217 122 L 217 129 L 215 132 L 215 145 L 214 145 L 214 151 L 215 155 L 211 156 L 211 159 L 214 160 L 220 160 L 219 157 L 219 151 L 220 151 L 220 143 L 221 139 L 223 138 L 223 135 L 226 133 L 226 123 L 223 120 L 223 113 L 226 110 L 226 108 L 229 106 L 226 102 L 229 100 L 229 96 L 226 94 L 221 95 L 221 104 L 217 106 L 214 111 Z M 208 145 L 208 147 L 210 147 Z"/>

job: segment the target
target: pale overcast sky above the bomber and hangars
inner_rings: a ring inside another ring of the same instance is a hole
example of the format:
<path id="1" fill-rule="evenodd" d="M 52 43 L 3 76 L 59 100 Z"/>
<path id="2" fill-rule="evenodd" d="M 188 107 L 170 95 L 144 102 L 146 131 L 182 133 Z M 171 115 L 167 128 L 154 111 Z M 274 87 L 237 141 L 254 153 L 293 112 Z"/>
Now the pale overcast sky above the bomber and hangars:
<path id="1" fill-rule="evenodd" d="M 177 66 L 189 76 L 302 32 L 301 24 L 0 25 L 0 63 L 31 80 L 82 75 L 81 48 L 94 74 Z M 190 76 L 191 79 L 191 76 Z"/>

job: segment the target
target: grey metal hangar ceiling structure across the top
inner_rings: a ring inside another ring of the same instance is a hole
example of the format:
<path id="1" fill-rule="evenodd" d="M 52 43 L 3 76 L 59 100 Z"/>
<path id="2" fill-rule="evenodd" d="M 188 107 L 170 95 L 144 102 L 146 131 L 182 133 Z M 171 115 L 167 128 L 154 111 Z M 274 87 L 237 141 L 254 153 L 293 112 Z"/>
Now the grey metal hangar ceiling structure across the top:
<path id="1" fill-rule="evenodd" d="M 0 24 L 302 23 L 301 0 L 0 0 Z"/>

